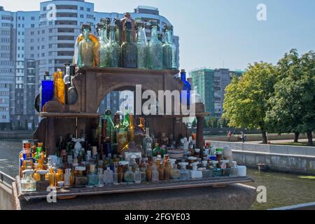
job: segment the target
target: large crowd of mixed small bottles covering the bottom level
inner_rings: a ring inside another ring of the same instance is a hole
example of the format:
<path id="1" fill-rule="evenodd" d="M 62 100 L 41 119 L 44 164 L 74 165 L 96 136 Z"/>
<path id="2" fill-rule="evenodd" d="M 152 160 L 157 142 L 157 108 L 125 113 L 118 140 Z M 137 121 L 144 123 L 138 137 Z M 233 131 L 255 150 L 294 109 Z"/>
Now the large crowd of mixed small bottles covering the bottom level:
<path id="1" fill-rule="evenodd" d="M 46 158 L 43 144 L 34 141 L 23 145 L 20 153 L 22 191 L 42 191 L 51 187 L 111 186 L 144 183 L 246 176 L 244 167 L 232 160 L 230 148 L 206 144 L 196 148 L 196 136 L 176 141 L 162 133 L 149 133 L 144 118 L 134 124 L 132 115 L 121 119 L 110 111 L 94 130 L 92 141 L 59 137 L 56 155 Z M 179 169 L 180 167 L 180 169 Z"/>

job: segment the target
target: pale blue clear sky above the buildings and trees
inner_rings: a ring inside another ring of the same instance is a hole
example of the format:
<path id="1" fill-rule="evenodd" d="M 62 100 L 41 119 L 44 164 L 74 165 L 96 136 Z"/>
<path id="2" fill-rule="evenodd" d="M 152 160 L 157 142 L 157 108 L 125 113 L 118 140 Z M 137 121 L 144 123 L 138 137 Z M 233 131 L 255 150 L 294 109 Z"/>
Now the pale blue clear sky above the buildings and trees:
<path id="1" fill-rule="evenodd" d="M 276 64 L 291 48 L 315 50 L 314 0 L 88 0 L 99 12 L 125 13 L 155 6 L 180 38 L 181 69 L 244 70 L 248 63 Z M 38 0 L 0 0 L 6 10 L 39 10 Z M 258 4 L 267 20 L 258 21 Z"/>

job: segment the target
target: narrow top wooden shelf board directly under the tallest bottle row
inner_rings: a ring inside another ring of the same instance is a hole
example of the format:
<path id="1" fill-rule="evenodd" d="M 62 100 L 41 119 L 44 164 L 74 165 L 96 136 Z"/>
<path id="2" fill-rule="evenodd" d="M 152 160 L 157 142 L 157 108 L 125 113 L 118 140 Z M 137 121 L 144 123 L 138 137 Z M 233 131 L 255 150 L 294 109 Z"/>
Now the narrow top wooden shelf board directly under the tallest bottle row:
<path id="1" fill-rule="evenodd" d="M 78 71 L 88 71 L 88 73 L 96 72 L 96 73 L 132 73 L 132 74 L 153 74 L 153 75 L 176 75 L 180 71 L 179 70 L 154 70 L 154 69 L 127 69 L 127 68 L 101 68 L 101 67 L 87 67 L 87 68 L 78 68 Z"/>

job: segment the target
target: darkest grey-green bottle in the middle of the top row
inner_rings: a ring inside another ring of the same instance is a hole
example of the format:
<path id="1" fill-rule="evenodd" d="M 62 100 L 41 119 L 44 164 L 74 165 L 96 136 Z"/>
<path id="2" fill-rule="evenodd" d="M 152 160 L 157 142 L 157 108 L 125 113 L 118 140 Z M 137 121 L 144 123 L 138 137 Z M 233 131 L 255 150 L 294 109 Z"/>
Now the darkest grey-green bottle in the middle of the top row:
<path id="1" fill-rule="evenodd" d="M 121 62 L 123 68 L 137 68 L 138 49 L 132 41 L 132 22 L 125 22 L 125 41 L 121 45 Z"/>

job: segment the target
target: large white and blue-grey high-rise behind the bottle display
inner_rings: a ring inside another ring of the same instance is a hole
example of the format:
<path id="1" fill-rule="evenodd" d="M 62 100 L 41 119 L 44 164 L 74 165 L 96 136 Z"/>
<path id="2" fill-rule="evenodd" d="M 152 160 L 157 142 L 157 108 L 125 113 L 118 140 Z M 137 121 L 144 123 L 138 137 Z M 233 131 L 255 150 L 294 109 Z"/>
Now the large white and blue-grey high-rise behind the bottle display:
<path id="1" fill-rule="evenodd" d="M 39 11 L 30 12 L 10 12 L 0 6 L 0 129 L 37 125 L 34 98 L 41 80 L 45 71 L 51 75 L 72 62 L 80 26 L 90 23 L 95 33 L 95 25 L 101 18 L 121 19 L 124 14 L 96 12 L 94 3 L 84 0 L 43 1 Z M 169 24 L 158 8 L 139 6 L 130 14 L 147 23 L 148 39 L 150 20 L 160 23 L 160 32 Z M 174 36 L 174 42 L 179 49 L 178 36 Z M 179 50 L 177 57 L 179 60 Z M 103 109 L 118 111 L 120 103 L 126 102 L 119 99 L 119 95 L 119 92 L 109 94 L 100 112 Z"/>

